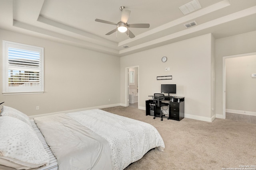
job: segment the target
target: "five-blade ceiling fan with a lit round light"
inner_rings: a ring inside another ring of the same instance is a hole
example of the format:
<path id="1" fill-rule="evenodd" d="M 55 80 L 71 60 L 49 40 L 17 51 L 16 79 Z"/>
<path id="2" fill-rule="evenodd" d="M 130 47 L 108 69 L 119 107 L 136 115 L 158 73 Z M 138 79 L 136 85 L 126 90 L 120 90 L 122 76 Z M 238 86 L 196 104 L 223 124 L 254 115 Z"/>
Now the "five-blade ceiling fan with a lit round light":
<path id="1" fill-rule="evenodd" d="M 128 37 L 134 38 L 135 35 L 132 33 L 132 31 L 130 31 L 129 28 L 149 28 L 149 26 L 150 26 L 149 23 L 133 23 L 133 24 L 128 24 L 127 21 L 129 19 L 131 11 L 125 9 L 124 6 L 120 6 L 120 10 L 122 11 L 122 16 L 121 16 L 121 21 L 119 21 L 118 23 L 114 23 L 114 22 L 110 22 L 110 21 L 105 21 L 105 20 L 100 20 L 100 19 L 96 19 L 95 20 L 97 22 L 102 22 L 102 23 L 108 23 L 108 24 L 116 25 L 116 28 L 113 29 L 112 31 L 106 33 L 106 35 L 110 35 L 110 34 L 116 32 L 118 30 L 121 33 L 125 32 L 128 35 Z"/>

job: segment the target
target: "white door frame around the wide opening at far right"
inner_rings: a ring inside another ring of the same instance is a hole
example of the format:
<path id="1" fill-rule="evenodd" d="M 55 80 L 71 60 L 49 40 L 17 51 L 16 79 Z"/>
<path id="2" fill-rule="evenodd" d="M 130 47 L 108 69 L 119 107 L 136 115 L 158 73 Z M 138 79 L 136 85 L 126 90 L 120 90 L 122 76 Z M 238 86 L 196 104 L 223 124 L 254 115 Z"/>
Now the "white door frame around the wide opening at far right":
<path id="1" fill-rule="evenodd" d="M 234 57 L 245 57 L 245 56 L 250 56 L 250 55 L 256 55 L 256 53 L 245 53 L 245 54 L 238 54 L 238 55 L 229 55 L 223 57 L 223 62 L 222 62 L 222 100 L 223 100 L 223 105 L 222 105 L 222 118 L 226 119 L 226 59 L 228 58 L 234 58 Z"/>

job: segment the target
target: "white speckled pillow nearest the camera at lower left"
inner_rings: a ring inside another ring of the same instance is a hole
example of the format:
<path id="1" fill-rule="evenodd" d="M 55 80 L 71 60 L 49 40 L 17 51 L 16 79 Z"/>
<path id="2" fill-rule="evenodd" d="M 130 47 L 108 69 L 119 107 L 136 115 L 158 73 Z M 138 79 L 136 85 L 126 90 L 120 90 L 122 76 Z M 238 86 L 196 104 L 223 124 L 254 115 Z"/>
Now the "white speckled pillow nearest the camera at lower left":
<path id="1" fill-rule="evenodd" d="M 0 164 L 16 169 L 48 165 L 49 155 L 30 126 L 19 119 L 0 116 Z"/>

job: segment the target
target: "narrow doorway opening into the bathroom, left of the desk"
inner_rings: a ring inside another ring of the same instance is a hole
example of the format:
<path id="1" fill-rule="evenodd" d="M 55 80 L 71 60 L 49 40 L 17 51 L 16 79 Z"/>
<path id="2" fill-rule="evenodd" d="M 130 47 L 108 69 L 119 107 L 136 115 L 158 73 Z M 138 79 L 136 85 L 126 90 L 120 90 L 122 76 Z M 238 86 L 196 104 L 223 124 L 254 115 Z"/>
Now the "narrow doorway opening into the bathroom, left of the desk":
<path id="1" fill-rule="evenodd" d="M 138 78 L 138 72 L 139 67 L 138 66 L 132 66 L 126 68 L 127 71 L 127 102 L 126 106 L 138 108 L 139 104 L 139 78 Z"/>

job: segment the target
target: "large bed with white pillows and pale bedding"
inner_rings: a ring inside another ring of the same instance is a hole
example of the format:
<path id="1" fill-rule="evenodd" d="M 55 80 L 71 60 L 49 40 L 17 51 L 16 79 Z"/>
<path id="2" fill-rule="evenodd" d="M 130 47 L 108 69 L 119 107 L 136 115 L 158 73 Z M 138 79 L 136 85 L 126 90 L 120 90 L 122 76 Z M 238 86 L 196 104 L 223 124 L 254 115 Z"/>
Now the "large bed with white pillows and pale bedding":
<path id="1" fill-rule="evenodd" d="M 100 109 L 33 120 L 1 110 L 0 169 L 123 170 L 154 148 L 165 146 L 152 125 Z"/>

